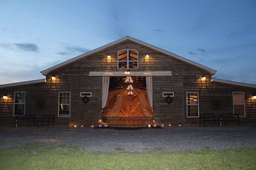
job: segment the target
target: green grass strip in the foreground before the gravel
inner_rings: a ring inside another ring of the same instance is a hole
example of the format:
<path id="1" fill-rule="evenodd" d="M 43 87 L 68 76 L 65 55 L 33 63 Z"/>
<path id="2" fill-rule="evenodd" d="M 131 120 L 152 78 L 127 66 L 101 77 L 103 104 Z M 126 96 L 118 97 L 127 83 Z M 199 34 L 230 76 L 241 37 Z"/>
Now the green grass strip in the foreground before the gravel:
<path id="1" fill-rule="evenodd" d="M 0 149 L 1 170 L 255 170 L 256 149 L 182 152 L 91 152 L 74 146 L 28 143 Z"/>

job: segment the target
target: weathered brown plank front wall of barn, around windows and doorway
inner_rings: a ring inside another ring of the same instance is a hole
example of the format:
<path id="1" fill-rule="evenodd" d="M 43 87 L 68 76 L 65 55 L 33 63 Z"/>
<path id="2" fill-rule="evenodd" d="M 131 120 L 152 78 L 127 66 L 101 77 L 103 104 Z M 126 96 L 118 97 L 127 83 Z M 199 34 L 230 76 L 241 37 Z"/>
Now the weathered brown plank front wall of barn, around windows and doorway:
<path id="1" fill-rule="evenodd" d="M 172 76 L 153 77 L 154 119 L 156 124 L 198 124 L 199 118 L 187 118 L 186 115 L 186 92 L 199 92 L 199 113 L 233 112 L 233 91 L 244 91 L 246 102 L 246 117 L 242 121 L 256 122 L 256 100 L 252 99 L 255 89 L 212 83 L 211 75 L 197 67 L 176 60 L 157 51 L 151 50 L 131 41 L 112 46 L 106 50 L 97 52 L 79 61 L 68 64 L 54 70 L 56 81 L 51 80 L 52 73 L 48 73 L 47 83 L 27 85 L 0 89 L 0 94 L 7 92 L 10 99 L 0 99 L 0 118 L 13 122 L 13 95 L 14 91 L 26 91 L 26 114 L 55 114 L 60 124 L 69 121 L 71 125 L 96 125 L 101 119 L 101 77 L 89 77 L 90 71 L 124 71 L 117 69 L 117 51 L 122 49 L 134 49 L 139 53 L 139 68 L 130 71 L 172 71 Z M 149 60 L 145 59 L 148 52 Z M 107 60 L 110 53 L 111 60 Z M 70 74 L 70 75 L 63 75 Z M 81 75 L 79 75 L 81 74 Z M 176 75 L 187 74 L 187 75 Z M 193 74 L 193 75 L 192 75 Z M 207 80 L 202 81 L 205 74 Z M 71 92 L 70 118 L 58 117 L 58 92 Z M 92 92 L 92 97 L 87 104 L 82 103 L 80 92 Z M 162 97 L 162 92 L 174 92 L 174 101 L 167 104 Z M 230 96 L 231 95 L 231 96 Z M 35 108 L 37 99 L 46 100 L 43 110 Z M 222 102 L 219 110 L 211 107 L 211 102 L 218 99 Z"/>

